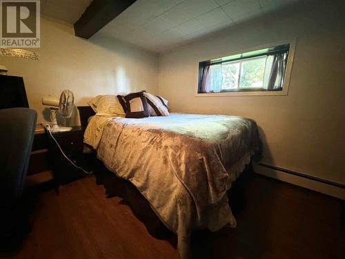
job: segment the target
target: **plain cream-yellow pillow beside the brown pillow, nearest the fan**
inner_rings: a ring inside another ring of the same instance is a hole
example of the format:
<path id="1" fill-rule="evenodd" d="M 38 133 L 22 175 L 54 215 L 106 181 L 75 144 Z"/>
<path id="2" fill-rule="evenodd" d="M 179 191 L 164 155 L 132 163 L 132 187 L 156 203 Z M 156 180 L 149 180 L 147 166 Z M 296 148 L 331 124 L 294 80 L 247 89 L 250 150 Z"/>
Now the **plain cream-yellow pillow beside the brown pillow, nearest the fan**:
<path id="1" fill-rule="evenodd" d="M 116 95 L 97 95 L 88 105 L 97 115 L 124 116 L 125 112 Z"/>

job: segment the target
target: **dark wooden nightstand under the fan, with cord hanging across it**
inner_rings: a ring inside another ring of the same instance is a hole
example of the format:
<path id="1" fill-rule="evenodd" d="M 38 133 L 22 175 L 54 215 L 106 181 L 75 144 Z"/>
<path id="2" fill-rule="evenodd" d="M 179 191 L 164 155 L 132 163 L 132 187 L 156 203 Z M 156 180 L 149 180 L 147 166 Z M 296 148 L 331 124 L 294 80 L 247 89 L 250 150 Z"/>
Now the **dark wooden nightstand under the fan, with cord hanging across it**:
<path id="1" fill-rule="evenodd" d="M 85 127 L 75 126 L 71 131 L 52 133 L 55 140 L 57 140 L 61 146 L 63 153 L 65 153 L 72 162 L 77 164 L 77 166 L 83 168 L 87 166 L 86 155 L 83 154 L 84 131 Z M 87 174 L 81 171 L 81 169 L 77 169 L 63 156 L 48 131 L 46 131 L 46 135 L 48 138 L 50 165 L 52 166 L 57 192 L 59 193 L 59 186 L 61 184 L 67 184 L 79 178 L 83 178 L 87 176 Z"/>

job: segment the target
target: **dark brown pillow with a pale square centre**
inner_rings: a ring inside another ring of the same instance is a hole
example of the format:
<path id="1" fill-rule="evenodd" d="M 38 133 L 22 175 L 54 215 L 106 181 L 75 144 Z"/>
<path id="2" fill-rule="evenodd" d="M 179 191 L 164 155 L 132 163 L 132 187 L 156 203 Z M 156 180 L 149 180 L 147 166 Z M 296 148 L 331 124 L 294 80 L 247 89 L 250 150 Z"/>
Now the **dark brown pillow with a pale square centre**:
<path id="1" fill-rule="evenodd" d="M 130 93 L 124 97 L 126 101 L 126 118 L 144 118 L 150 116 L 148 102 L 143 92 Z"/>

